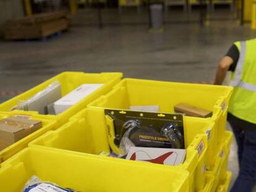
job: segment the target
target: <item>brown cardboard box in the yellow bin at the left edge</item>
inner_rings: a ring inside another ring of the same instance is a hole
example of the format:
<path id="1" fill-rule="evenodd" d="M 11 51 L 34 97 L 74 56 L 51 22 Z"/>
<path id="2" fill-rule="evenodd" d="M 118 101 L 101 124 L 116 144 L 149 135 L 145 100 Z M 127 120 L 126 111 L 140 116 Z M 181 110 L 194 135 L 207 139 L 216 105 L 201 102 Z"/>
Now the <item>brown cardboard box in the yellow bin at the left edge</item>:
<path id="1" fill-rule="evenodd" d="M 0 120 L 0 150 L 21 140 L 42 127 L 38 120 L 22 117 L 9 117 Z"/>

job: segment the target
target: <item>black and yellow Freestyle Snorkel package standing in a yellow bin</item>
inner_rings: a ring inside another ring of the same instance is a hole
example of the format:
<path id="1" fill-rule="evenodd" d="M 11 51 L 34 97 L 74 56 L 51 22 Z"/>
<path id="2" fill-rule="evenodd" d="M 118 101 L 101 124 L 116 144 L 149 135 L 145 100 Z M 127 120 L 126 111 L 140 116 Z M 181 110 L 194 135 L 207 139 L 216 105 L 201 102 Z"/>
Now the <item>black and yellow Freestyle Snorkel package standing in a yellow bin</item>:
<path id="1" fill-rule="evenodd" d="M 183 116 L 105 109 L 109 144 L 119 156 L 131 146 L 184 149 Z"/>

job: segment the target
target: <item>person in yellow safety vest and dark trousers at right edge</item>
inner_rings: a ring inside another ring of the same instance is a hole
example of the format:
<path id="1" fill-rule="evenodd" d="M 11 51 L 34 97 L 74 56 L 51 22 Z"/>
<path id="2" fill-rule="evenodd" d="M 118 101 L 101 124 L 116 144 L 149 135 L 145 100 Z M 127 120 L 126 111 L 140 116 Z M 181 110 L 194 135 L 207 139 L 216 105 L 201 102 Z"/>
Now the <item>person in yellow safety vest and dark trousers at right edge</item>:
<path id="1" fill-rule="evenodd" d="M 256 182 L 256 39 L 233 44 L 221 60 L 215 85 L 232 72 L 234 87 L 228 109 L 238 147 L 239 175 L 231 192 L 250 192 Z"/>

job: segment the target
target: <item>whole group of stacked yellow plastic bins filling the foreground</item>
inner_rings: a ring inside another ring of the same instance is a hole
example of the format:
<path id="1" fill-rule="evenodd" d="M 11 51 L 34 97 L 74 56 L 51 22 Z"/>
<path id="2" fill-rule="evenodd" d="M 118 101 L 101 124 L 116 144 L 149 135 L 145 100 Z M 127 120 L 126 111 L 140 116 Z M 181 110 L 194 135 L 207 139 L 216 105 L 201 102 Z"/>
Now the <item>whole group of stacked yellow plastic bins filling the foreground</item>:
<path id="1" fill-rule="evenodd" d="M 41 132 L 11 146 L 15 150 L 10 154 L 3 153 L 0 188 L 5 192 L 21 191 L 27 180 L 37 175 L 78 191 L 228 191 L 233 135 L 225 128 L 233 88 L 121 77 L 121 73 L 66 72 L 0 104 L 1 118 L 26 115 L 43 122 Z M 62 96 L 83 83 L 105 86 L 60 115 L 8 112 L 54 80 L 61 83 Z M 105 109 L 157 105 L 160 113 L 173 113 L 179 102 L 213 111 L 207 119 L 184 116 L 187 156 L 183 164 L 169 166 L 98 156 L 101 151 L 111 151 Z"/>

